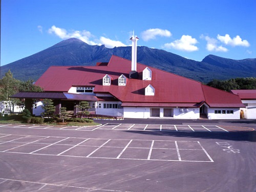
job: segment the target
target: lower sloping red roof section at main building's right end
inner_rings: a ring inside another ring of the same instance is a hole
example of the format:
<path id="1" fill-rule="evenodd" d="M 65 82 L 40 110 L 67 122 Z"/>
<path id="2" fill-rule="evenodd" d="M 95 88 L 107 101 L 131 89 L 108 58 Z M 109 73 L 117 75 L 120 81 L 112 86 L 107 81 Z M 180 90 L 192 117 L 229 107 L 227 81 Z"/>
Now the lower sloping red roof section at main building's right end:
<path id="1" fill-rule="evenodd" d="M 241 99 L 232 93 L 202 84 L 205 102 L 211 108 L 243 108 Z"/>

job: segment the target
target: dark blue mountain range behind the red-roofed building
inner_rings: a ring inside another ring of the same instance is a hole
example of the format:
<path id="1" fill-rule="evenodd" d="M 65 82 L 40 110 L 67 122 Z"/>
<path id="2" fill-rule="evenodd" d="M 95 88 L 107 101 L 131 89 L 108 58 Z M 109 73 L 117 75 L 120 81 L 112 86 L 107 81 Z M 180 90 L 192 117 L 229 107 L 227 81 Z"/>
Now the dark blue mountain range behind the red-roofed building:
<path id="1" fill-rule="evenodd" d="M 131 47 L 109 49 L 104 45 L 91 46 L 79 39 L 70 38 L 1 67 L 1 78 L 10 69 L 16 79 L 37 80 L 50 66 L 94 66 L 96 62 L 108 62 L 111 55 L 131 60 L 131 52 Z M 201 82 L 256 77 L 256 58 L 233 60 L 208 55 L 202 61 L 195 61 L 164 50 L 141 46 L 137 48 L 137 62 Z"/>

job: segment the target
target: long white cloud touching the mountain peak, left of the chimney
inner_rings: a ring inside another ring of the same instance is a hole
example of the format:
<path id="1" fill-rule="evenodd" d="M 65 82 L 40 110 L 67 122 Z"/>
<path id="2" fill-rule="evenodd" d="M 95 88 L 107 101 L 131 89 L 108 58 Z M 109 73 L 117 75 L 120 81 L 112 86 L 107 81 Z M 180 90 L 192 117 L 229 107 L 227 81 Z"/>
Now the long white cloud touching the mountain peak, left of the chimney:
<path id="1" fill-rule="evenodd" d="M 96 42 L 90 40 L 93 35 L 86 30 L 83 31 L 71 31 L 68 32 L 66 29 L 58 28 L 56 26 L 52 26 L 50 29 L 48 29 L 48 33 L 55 34 L 61 39 L 68 39 L 68 38 L 78 38 L 84 42 L 86 42 L 89 45 L 97 45 Z"/>

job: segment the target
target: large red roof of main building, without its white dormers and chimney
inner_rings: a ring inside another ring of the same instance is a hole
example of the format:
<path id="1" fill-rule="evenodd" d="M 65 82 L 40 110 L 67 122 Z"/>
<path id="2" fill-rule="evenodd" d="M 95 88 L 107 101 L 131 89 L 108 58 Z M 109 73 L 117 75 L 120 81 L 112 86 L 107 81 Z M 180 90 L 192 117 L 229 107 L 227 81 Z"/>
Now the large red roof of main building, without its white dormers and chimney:
<path id="1" fill-rule="evenodd" d="M 242 104 L 236 95 L 210 87 L 203 89 L 205 86 L 202 86 L 201 82 L 152 67 L 148 67 L 152 70 L 152 80 L 142 80 L 142 71 L 146 67 L 148 66 L 137 63 L 139 77 L 129 79 L 131 61 L 113 55 L 108 65 L 52 66 L 35 84 L 46 92 L 68 92 L 72 86 L 92 86 L 95 87 L 95 93 L 110 93 L 122 102 L 200 103 L 208 100 L 212 105 L 228 103 L 226 105 L 238 106 Z M 111 86 L 102 86 L 102 78 L 106 74 L 113 78 Z M 118 86 L 118 77 L 121 74 L 127 77 L 126 86 Z M 144 95 L 148 84 L 155 88 L 154 96 Z M 210 95 L 207 94 L 208 92 Z M 229 102 L 230 98 L 234 98 L 231 99 L 232 102 Z M 190 105 L 193 104 L 188 106 Z"/>

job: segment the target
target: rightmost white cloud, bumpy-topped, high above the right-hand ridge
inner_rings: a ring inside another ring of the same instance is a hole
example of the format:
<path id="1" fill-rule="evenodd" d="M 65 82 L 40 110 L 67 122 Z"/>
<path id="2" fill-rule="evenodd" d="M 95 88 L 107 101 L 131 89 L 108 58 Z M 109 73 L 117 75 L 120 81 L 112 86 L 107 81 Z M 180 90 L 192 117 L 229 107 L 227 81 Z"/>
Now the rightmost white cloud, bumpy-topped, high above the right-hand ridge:
<path id="1" fill-rule="evenodd" d="M 230 46 L 244 46 L 244 47 L 249 47 L 250 44 L 247 40 L 242 40 L 242 38 L 237 35 L 236 37 L 231 38 L 229 34 L 226 34 L 225 36 L 221 36 L 218 34 L 217 38 L 223 42 L 225 45 L 230 45 Z"/>

